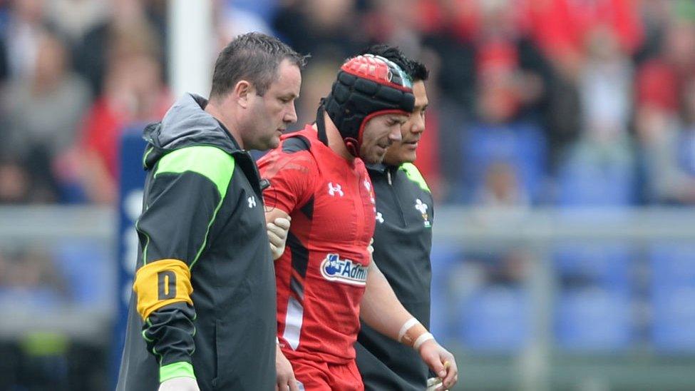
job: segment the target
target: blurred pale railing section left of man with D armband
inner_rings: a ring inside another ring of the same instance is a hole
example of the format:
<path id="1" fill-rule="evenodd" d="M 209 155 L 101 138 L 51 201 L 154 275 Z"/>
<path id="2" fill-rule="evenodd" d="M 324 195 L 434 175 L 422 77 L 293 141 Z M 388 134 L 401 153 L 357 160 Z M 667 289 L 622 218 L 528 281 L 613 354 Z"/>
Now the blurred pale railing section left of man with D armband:
<path id="1" fill-rule="evenodd" d="M 105 276 L 105 273 L 101 276 L 87 275 L 86 278 L 98 278 L 99 284 L 115 287 L 118 270 L 115 266 L 115 221 L 115 213 L 108 208 L 4 206 L 0 208 L 0 256 L 11 258 L 9 254 L 29 251 L 50 258 L 53 249 L 66 242 L 78 240 L 83 246 L 93 244 L 95 250 L 99 250 L 103 267 L 108 268 L 113 264 L 113 273 Z M 104 277 L 105 281 L 102 281 Z M 9 282 L 9 285 L 14 284 Z M 6 287 L 0 287 L 0 290 L 3 288 Z M 66 287 L 68 290 L 70 288 Z M 4 293 L 11 291 L 12 294 L 0 302 L 0 313 L 4 314 L 0 320 L 0 338 L 21 337 L 31 332 L 58 332 L 96 343 L 105 343 L 110 339 L 115 297 L 110 300 L 108 296 L 101 295 L 101 299 L 91 302 L 91 305 L 74 305 L 70 300 L 57 300 L 56 305 L 46 308 L 45 304 L 36 304 L 31 300 L 30 290 L 30 287 L 22 286 L 4 290 Z"/>

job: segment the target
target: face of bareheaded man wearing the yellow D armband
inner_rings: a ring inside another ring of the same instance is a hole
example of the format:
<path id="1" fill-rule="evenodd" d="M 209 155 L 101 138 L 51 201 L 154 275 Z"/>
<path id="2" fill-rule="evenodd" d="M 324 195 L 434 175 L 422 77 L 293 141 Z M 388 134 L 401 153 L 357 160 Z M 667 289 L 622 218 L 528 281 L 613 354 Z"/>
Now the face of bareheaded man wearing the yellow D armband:
<path id="1" fill-rule="evenodd" d="M 270 84 L 263 96 L 254 90 L 250 93 L 250 126 L 244 141 L 244 148 L 266 149 L 275 148 L 280 143 L 280 135 L 287 125 L 297 121 L 294 101 L 299 96 L 302 85 L 302 73 L 299 68 L 283 60 L 277 70 L 277 78 Z"/>

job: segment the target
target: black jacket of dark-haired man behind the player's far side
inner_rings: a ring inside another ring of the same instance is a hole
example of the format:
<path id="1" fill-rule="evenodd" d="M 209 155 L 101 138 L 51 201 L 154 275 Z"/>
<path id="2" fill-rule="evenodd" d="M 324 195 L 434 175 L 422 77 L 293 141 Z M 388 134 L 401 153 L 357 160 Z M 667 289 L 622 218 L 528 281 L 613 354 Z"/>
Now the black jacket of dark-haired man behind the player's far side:
<path id="1" fill-rule="evenodd" d="M 376 193 L 374 262 L 406 310 L 429 328 L 432 195 L 411 163 L 368 169 Z M 363 322 L 355 349 L 366 390 L 425 389 L 428 368 L 411 347 Z"/>

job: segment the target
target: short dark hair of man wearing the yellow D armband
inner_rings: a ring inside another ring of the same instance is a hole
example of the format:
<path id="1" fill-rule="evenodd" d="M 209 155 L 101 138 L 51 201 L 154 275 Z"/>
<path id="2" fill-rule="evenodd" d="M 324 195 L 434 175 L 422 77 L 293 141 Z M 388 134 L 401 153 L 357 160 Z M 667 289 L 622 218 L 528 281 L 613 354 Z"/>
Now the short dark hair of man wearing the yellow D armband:
<path id="1" fill-rule="evenodd" d="M 274 36 L 256 32 L 237 36 L 215 61 L 210 98 L 224 96 L 240 80 L 252 83 L 262 96 L 277 78 L 277 68 L 284 59 L 300 69 L 307 63 L 307 56 L 298 54 Z"/>

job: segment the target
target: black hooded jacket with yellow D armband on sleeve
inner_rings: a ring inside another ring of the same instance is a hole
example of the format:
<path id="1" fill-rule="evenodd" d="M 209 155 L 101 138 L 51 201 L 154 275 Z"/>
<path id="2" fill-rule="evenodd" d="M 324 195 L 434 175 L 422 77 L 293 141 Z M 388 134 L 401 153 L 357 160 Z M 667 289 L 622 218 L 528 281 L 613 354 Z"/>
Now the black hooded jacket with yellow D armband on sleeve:
<path id="1" fill-rule="evenodd" d="M 206 104 L 187 94 L 145 128 L 148 177 L 117 390 L 157 390 L 160 367 L 170 376 L 191 365 L 200 390 L 274 389 L 275 279 L 259 174 Z"/>

